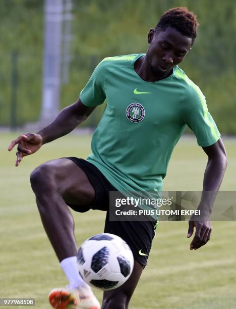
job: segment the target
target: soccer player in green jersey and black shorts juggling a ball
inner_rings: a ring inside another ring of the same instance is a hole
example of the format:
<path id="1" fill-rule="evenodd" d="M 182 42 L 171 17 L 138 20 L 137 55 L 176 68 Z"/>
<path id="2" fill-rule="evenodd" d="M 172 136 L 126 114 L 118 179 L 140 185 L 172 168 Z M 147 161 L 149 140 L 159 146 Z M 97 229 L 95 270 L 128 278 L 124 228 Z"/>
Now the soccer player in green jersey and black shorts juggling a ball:
<path id="1" fill-rule="evenodd" d="M 218 191 L 227 162 L 225 148 L 204 95 L 178 67 L 193 46 L 197 27 L 196 16 L 187 8 L 168 10 L 149 31 L 146 54 L 105 58 L 74 104 L 38 133 L 23 134 L 11 142 L 9 150 L 18 144 L 18 166 L 43 144 L 71 132 L 107 100 L 87 160 L 52 160 L 30 177 L 43 226 L 69 280 L 67 288 L 49 294 L 53 307 L 73 303 L 78 308 L 100 307 L 77 271 L 69 207 L 77 212 L 107 211 L 104 232 L 119 235 L 131 247 L 135 259 L 131 277 L 103 296 L 102 308 L 118 309 L 128 307 L 147 263 L 155 223 L 110 222 L 109 191 L 161 191 L 172 150 L 186 126 L 208 156 L 203 191 Z M 210 239 L 213 200 L 202 198 L 200 202 L 204 220 L 189 221 L 188 237 L 195 227 L 191 250 Z"/>

